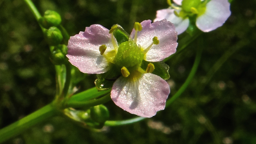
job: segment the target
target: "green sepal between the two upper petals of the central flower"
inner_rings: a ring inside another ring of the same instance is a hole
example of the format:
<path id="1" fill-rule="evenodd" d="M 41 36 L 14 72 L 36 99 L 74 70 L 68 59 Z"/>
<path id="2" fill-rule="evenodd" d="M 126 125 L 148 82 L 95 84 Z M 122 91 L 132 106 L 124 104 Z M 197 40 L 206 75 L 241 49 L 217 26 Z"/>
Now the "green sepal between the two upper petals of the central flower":
<path id="1" fill-rule="evenodd" d="M 111 27 L 109 33 L 112 32 L 118 45 L 129 40 L 130 35 L 119 24 L 115 24 Z"/>

